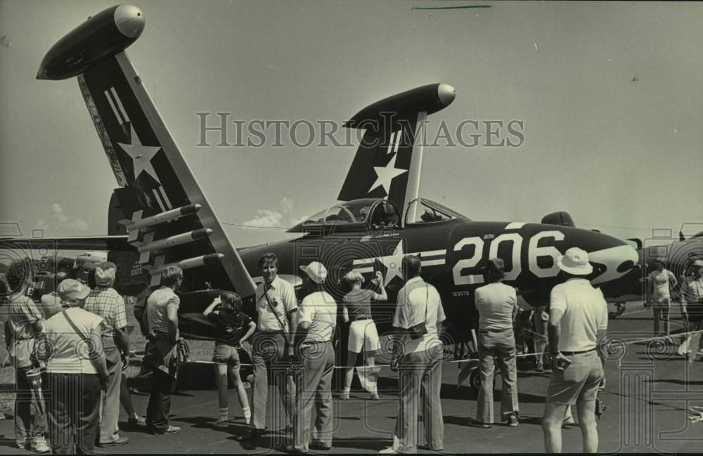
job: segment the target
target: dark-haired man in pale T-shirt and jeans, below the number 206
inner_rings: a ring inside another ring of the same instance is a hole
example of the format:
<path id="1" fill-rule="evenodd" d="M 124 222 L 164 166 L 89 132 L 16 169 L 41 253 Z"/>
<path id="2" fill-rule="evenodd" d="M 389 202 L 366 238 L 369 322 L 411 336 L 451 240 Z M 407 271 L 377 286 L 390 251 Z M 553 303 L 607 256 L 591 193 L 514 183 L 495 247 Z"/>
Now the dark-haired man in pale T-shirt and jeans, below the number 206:
<path id="1" fill-rule="evenodd" d="M 477 426 L 490 427 L 493 415 L 494 359 L 503 378 L 501 386 L 501 419 L 508 426 L 517 426 L 517 365 L 515 362 L 515 332 L 512 322 L 517 314 L 515 288 L 503 283 L 505 263 L 491 258 L 486 263 L 484 276 L 488 285 L 476 289 L 476 309 L 479 312 L 479 363 L 481 388 L 477 398 Z"/>

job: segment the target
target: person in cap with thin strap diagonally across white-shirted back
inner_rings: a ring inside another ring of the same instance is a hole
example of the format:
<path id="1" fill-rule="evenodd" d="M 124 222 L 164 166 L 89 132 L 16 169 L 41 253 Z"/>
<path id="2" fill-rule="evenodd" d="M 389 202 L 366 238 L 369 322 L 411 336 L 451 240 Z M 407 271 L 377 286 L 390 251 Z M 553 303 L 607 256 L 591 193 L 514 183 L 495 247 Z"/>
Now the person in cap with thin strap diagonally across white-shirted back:
<path id="1" fill-rule="evenodd" d="M 101 387 L 108 367 L 101 338 L 102 318 L 79 308 L 90 288 L 65 279 L 56 289 L 62 309 L 44 322 L 34 346 L 35 356 L 46 362 L 43 383 L 51 449 L 56 455 L 95 454 L 93 447 L 100 420 Z M 74 440 L 75 436 L 75 440 Z"/>

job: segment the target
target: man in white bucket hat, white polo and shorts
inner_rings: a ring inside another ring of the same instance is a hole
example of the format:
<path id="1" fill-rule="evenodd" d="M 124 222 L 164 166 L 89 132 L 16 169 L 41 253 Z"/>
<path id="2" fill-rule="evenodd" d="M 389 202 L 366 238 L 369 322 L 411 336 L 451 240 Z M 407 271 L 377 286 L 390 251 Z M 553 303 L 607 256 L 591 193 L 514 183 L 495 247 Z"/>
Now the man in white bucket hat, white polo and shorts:
<path id="1" fill-rule="evenodd" d="M 595 399 L 603 378 L 599 352 L 608 326 L 607 304 L 586 276 L 593 272 L 588 253 L 572 247 L 557 258 L 566 282 L 552 289 L 549 348 L 552 376 L 542 418 L 546 452 L 562 451 L 562 421 L 576 404 L 583 452 L 598 452 Z"/>

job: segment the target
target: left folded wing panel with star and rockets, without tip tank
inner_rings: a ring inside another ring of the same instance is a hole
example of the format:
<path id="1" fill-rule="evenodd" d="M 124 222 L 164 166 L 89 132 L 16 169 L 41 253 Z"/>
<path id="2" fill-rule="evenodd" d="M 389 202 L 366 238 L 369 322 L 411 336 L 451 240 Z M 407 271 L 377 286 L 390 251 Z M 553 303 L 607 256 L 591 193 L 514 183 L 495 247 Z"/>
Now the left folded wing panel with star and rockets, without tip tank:
<path id="1" fill-rule="evenodd" d="M 157 265 L 148 268 L 150 284 L 160 282 L 162 265 L 177 264 L 188 269 L 189 289 L 208 278 L 253 294 L 254 282 L 124 51 L 87 68 L 78 82 L 122 187 L 115 190 L 122 226 L 138 263 Z"/>

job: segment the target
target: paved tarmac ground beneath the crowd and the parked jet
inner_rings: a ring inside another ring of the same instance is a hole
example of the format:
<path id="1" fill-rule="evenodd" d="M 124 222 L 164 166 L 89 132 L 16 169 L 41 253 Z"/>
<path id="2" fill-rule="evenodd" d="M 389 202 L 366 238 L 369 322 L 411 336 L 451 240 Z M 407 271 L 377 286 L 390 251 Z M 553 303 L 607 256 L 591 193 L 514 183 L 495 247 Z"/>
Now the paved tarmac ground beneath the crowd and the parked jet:
<path id="1" fill-rule="evenodd" d="M 675 315 L 676 318 L 676 315 Z M 678 325 L 673 324 L 672 330 Z M 610 321 L 609 337 L 624 341 L 652 336 L 651 313 L 634 311 Z M 601 393 L 605 415 L 598 422 L 600 452 L 703 452 L 703 422 L 688 420 L 690 405 L 703 405 L 703 362 L 689 364 L 677 356 L 675 346 L 660 346 L 647 341 L 626 345 L 621 356 L 613 356 L 606 365 L 607 386 Z M 476 393 L 468 386 L 457 389 L 458 365 L 446 361 L 442 366 L 441 389 L 444 411 L 444 449 L 446 452 L 543 452 L 541 416 L 548 374 L 534 370 L 520 372 L 520 426 L 510 428 L 494 424 L 491 429 L 468 426 L 476 415 Z M 209 365 L 193 366 L 191 378 L 207 377 Z M 335 393 L 335 440 L 333 452 L 368 453 L 385 448 L 392 438 L 397 401 L 393 394 L 393 372 L 381 372 L 381 399 L 365 400 L 368 393 L 357 392 L 352 400 L 337 400 Z M 202 383 L 202 382 L 201 382 Z M 205 382 L 209 383 L 209 382 Z M 204 386 L 202 387 L 204 388 Z M 500 379 L 496 382 L 496 412 L 500 403 Z M 272 390 L 273 391 L 273 390 Z M 282 431 L 272 431 L 251 445 L 235 441 L 245 431 L 236 393 L 230 390 L 233 421 L 228 429 L 213 426 L 217 417 L 217 392 L 191 389 L 174 396 L 172 424 L 181 426 L 180 434 L 151 436 L 144 428 L 127 426 L 122 412 L 122 435 L 129 445 L 98 449 L 116 453 L 249 453 L 280 452 L 274 449 L 285 443 Z M 278 400 L 271 393 L 273 400 Z M 144 412 L 148 396 L 132 396 L 136 410 Z M 271 414 L 269 414 L 271 416 Z M 285 426 L 283 418 L 269 420 L 269 429 Z M 581 452 L 581 431 L 570 426 L 563 431 L 565 452 Z M 0 454 L 20 452 L 13 448 L 12 420 L 0 421 Z M 420 452 L 428 452 L 420 450 Z"/>

